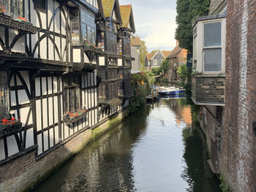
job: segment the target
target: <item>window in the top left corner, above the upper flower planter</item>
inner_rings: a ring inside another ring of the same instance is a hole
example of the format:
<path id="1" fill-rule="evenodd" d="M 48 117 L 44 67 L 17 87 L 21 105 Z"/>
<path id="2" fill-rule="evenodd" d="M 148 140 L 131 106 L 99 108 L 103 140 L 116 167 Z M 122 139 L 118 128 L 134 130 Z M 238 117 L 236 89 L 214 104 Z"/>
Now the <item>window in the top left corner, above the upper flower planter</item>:
<path id="1" fill-rule="evenodd" d="M 1 10 L 5 14 L 18 18 L 23 16 L 23 0 L 0 0 Z"/>

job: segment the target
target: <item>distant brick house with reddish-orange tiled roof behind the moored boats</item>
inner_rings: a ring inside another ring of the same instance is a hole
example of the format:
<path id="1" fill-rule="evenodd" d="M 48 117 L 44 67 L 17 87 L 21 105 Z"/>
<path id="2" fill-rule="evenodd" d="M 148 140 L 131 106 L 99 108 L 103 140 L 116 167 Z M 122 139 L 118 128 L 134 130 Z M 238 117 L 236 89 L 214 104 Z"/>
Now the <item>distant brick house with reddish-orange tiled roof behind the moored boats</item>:
<path id="1" fill-rule="evenodd" d="M 187 63 L 187 50 L 179 47 L 177 42 L 176 47 L 174 47 L 170 55 L 167 56 L 167 61 L 170 66 L 168 67 L 165 77 L 171 82 L 180 82 L 181 78 L 178 77 L 177 70 L 179 66 Z"/>

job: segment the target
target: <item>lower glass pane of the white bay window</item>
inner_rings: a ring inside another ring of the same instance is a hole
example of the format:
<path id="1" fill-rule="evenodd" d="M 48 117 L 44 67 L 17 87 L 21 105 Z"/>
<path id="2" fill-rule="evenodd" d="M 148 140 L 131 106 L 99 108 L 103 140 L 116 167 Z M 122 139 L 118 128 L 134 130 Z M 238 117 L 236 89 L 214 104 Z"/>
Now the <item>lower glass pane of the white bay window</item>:
<path id="1" fill-rule="evenodd" d="M 204 50 L 205 72 L 220 72 L 222 70 L 222 49 Z"/>

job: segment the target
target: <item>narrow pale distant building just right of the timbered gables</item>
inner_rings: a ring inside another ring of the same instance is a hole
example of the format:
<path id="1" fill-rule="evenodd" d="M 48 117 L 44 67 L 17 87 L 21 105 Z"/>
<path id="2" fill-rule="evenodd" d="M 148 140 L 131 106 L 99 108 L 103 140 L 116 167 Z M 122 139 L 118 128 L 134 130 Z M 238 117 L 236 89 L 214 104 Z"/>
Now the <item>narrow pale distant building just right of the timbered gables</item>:
<path id="1" fill-rule="evenodd" d="M 140 37 L 132 37 L 131 38 L 131 55 L 132 58 L 132 74 L 140 72 L 140 46 L 141 40 Z"/>

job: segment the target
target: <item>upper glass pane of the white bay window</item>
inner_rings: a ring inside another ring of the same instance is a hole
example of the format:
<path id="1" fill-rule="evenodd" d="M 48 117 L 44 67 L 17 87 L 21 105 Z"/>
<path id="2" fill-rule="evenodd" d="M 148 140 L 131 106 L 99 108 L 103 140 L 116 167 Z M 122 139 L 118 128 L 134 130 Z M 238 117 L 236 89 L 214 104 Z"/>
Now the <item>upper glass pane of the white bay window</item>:
<path id="1" fill-rule="evenodd" d="M 222 23 L 204 24 L 204 47 L 222 46 Z"/>

